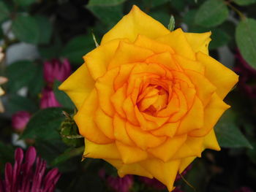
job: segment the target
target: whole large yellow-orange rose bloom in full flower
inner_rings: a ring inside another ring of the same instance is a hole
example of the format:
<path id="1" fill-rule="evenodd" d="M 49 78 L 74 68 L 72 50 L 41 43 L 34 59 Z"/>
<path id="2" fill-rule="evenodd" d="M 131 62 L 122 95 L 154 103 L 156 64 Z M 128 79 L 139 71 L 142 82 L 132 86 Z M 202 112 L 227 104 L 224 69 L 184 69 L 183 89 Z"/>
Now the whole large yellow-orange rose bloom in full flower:
<path id="1" fill-rule="evenodd" d="M 177 172 L 220 150 L 213 127 L 238 76 L 208 55 L 210 35 L 169 31 L 132 7 L 60 86 L 78 108 L 84 156 L 172 191 Z"/>

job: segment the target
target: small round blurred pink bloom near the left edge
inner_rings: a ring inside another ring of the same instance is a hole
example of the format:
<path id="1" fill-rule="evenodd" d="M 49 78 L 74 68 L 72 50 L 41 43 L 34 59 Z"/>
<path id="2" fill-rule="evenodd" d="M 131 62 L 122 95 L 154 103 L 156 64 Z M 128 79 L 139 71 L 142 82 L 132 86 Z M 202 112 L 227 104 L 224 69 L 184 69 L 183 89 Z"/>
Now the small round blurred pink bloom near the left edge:
<path id="1" fill-rule="evenodd" d="M 26 111 L 15 112 L 12 115 L 12 128 L 15 128 L 15 131 L 23 131 L 26 127 L 26 124 L 29 122 L 31 115 Z"/>

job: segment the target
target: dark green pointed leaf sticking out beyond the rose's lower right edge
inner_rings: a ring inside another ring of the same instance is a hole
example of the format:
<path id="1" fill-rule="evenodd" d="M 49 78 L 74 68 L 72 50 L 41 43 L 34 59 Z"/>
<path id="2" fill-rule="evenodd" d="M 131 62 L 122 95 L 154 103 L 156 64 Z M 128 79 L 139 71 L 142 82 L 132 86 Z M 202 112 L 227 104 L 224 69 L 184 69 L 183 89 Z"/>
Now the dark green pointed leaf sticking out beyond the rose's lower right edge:
<path id="1" fill-rule="evenodd" d="M 249 141 L 241 133 L 236 124 L 236 115 L 228 110 L 222 115 L 214 130 L 221 147 L 248 147 L 252 149 Z"/>

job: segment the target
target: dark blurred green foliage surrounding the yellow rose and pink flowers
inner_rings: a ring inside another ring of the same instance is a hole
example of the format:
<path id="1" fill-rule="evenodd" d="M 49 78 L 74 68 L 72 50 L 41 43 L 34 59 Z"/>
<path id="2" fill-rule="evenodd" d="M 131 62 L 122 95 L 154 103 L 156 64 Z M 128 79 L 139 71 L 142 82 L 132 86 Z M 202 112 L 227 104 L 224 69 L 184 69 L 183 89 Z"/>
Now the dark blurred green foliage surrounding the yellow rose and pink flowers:
<path id="1" fill-rule="evenodd" d="M 232 109 L 216 126 L 222 151 L 206 150 L 184 177 L 197 191 L 230 192 L 242 186 L 256 191 L 256 0 L 0 0 L 0 46 L 5 54 L 0 69 L 8 78 L 0 117 L 1 173 L 6 162 L 13 162 L 15 147 L 35 145 L 49 167 L 59 168 L 59 191 L 111 191 L 98 172 L 115 175 L 116 170 L 101 160 L 81 162 L 83 141 L 67 115 L 75 107 L 57 89 L 59 80 L 45 81 L 43 64 L 67 58 L 75 71 L 95 47 L 92 34 L 100 42 L 133 4 L 166 27 L 173 15 L 175 28 L 211 31 L 210 55 L 240 74 L 226 98 Z M 46 86 L 61 107 L 40 107 Z M 12 115 L 20 111 L 31 114 L 22 133 L 12 126 Z M 194 191 L 184 180 L 177 185 Z M 156 190 L 135 177 L 130 191 Z"/>

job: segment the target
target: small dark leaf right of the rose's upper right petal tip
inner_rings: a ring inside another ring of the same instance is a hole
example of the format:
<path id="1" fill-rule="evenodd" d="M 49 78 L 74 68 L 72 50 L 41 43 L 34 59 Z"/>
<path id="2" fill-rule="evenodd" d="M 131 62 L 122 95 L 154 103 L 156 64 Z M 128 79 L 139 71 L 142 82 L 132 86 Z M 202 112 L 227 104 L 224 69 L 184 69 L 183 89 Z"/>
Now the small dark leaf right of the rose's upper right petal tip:
<path id="1" fill-rule="evenodd" d="M 209 45 L 210 50 L 214 50 L 223 45 L 227 45 L 230 41 L 230 36 L 220 28 L 214 28 L 211 31 L 211 42 Z"/>

